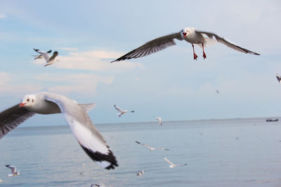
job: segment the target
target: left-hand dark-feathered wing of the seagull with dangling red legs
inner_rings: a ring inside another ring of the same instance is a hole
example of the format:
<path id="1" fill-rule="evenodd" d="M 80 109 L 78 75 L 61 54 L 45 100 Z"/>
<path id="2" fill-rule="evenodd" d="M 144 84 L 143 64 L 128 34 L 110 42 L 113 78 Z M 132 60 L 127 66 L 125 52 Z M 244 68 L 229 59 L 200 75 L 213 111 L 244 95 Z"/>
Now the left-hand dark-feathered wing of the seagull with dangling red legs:
<path id="1" fill-rule="evenodd" d="M 145 57 L 146 55 L 150 55 L 152 53 L 156 53 L 159 50 L 164 50 L 169 46 L 175 46 L 176 42 L 174 39 L 183 40 L 181 37 L 181 32 L 177 32 L 174 34 L 169 34 L 166 36 L 159 37 L 152 41 L 148 41 L 143 46 L 132 50 L 131 52 L 119 57 L 117 60 L 113 60 L 112 62 L 129 60 L 131 58 Z"/>

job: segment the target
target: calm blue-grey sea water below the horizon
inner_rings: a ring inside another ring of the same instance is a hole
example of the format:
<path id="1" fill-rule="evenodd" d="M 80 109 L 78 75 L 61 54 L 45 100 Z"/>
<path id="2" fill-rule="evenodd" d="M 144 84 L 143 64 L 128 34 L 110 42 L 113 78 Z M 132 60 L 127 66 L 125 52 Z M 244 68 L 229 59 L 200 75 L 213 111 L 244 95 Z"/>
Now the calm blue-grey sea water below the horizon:
<path id="1" fill-rule="evenodd" d="M 22 126 L 0 140 L 0 186 L 281 186 L 281 123 L 265 120 L 96 125 L 117 157 L 113 170 L 96 165 L 68 126 Z M 188 165 L 170 168 L 163 157 Z M 22 174 L 8 177 L 6 164 Z"/>

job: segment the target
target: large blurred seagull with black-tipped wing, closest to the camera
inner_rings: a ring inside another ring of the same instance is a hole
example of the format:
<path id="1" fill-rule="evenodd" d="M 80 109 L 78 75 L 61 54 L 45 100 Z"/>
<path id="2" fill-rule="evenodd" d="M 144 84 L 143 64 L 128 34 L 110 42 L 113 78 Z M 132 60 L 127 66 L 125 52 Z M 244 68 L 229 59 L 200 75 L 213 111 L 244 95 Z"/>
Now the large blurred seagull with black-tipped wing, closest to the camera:
<path id="1" fill-rule="evenodd" d="M 102 135 L 96 130 L 87 112 L 96 104 L 79 104 L 73 99 L 51 92 L 37 92 L 22 97 L 0 113 L 0 139 L 35 113 L 63 113 L 79 145 L 89 157 L 105 169 L 115 169 L 117 160 Z"/>

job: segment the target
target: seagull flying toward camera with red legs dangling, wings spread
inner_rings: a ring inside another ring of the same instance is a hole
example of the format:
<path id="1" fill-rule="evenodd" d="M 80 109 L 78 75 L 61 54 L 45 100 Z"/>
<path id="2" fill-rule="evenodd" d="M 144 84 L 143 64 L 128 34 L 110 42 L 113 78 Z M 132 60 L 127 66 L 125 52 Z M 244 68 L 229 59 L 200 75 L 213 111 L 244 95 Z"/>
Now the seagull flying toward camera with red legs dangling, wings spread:
<path id="1" fill-rule="evenodd" d="M 251 50 L 247 50 L 246 48 L 242 48 L 237 46 L 237 44 L 233 43 L 232 41 L 218 36 L 212 32 L 204 32 L 199 29 L 195 29 L 193 27 L 186 27 L 181 29 L 180 32 L 176 32 L 173 34 L 168 34 L 166 36 L 159 37 L 157 39 L 153 39 L 152 41 L 148 41 L 143 46 L 138 47 L 131 52 L 123 55 L 122 57 L 117 58 L 117 60 L 113 60 L 112 62 L 118 62 L 122 60 L 129 60 L 131 58 L 138 58 L 138 57 L 145 57 L 146 55 L 150 55 L 152 53 L 156 53 L 159 50 L 164 50 L 169 46 L 175 46 L 176 42 L 174 39 L 179 41 L 187 41 L 191 43 L 193 48 L 193 57 L 194 60 L 197 60 L 197 55 L 195 54 L 194 45 L 197 44 L 198 46 L 202 47 L 203 49 L 203 57 L 204 59 L 207 58 L 207 55 L 204 52 L 204 47 L 214 45 L 215 43 L 223 43 L 224 45 L 228 46 L 229 48 L 233 48 L 234 50 L 240 51 L 242 53 L 249 53 L 252 55 L 260 55 L 259 53 L 255 53 Z"/>

